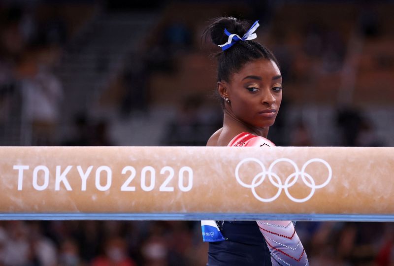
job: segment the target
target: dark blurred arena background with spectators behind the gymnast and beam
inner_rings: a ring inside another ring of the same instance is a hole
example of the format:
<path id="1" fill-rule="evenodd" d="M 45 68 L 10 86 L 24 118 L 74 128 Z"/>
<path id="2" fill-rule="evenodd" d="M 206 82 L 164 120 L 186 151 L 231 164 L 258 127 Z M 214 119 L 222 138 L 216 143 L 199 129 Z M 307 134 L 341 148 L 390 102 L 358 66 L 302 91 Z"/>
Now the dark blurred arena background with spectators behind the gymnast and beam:
<path id="1" fill-rule="evenodd" d="M 204 146 L 209 19 L 260 20 L 279 146 L 394 145 L 394 1 L 1 0 L 1 146 Z M 392 122 L 390 122 L 392 121 Z M 298 222 L 311 265 L 394 265 L 391 223 Z M 198 222 L 3 221 L 0 265 L 205 265 Z"/>

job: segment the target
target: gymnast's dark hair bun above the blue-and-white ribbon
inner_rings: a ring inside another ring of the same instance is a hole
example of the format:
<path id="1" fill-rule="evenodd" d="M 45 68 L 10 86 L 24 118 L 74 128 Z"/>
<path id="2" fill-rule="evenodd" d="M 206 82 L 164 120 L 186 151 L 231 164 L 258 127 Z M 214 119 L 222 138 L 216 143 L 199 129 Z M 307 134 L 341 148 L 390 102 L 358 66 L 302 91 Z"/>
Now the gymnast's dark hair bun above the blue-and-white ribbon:
<path id="1" fill-rule="evenodd" d="M 243 36 L 249 29 L 250 25 L 247 21 L 237 20 L 233 17 L 221 17 L 215 19 L 205 30 L 204 35 L 210 34 L 211 40 L 216 45 L 227 42 L 229 36 L 225 33 L 225 28 L 229 33 Z"/>

